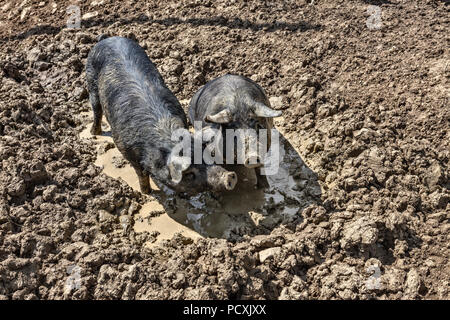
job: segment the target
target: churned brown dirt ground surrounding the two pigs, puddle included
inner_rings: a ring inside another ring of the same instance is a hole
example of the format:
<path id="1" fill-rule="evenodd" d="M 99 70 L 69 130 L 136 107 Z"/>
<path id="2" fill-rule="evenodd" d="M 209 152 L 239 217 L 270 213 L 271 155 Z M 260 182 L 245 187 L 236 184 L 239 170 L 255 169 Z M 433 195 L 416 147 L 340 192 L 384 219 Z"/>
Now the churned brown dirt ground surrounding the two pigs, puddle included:
<path id="1" fill-rule="evenodd" d="M 0 299 L 449 299 L 449 11 L 2 1 Z M 284 110 L 271 188 L 141 195 L 111 138 L 86 133 L 102 33 L 135 37 L 184 106 L 226 73 L 258 82 Z"/>

